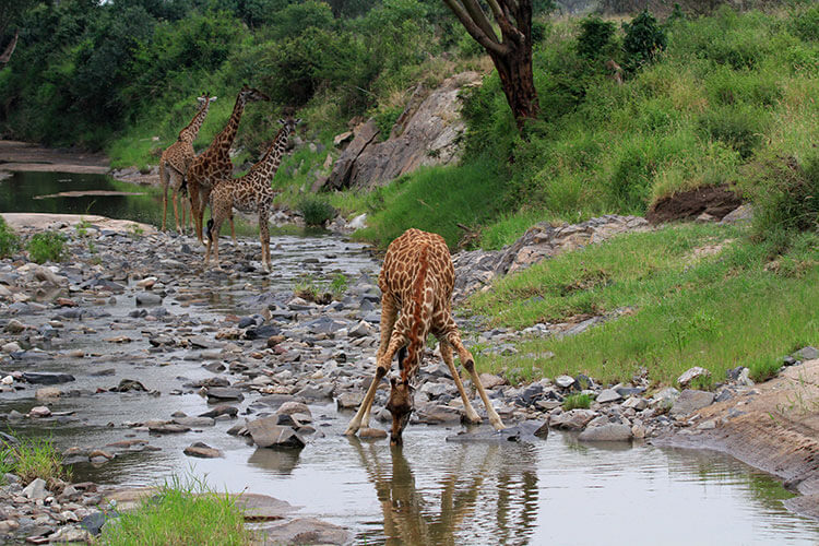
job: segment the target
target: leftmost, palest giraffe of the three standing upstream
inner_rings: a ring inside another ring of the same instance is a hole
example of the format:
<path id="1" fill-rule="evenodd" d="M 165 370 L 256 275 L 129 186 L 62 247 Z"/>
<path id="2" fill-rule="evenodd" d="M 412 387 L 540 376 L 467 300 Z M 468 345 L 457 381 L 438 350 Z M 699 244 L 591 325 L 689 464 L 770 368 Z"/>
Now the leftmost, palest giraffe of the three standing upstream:
<path id="1" fill-rule="evenodd" d="M 216 97 L 202 93 L 201 97 L 197 97 L 199 100 L 199 111 L 190 123 L 179 131 L 179 136 L 175 143 L 162 153 L 159 159 L 159 181 L 162 182 L 163 195 L 162 195 L 162 229 L 165 230 L 165 222 L 168 217 L 168 183 L 174 185 L 174 219 L 176 221 L 176 229 L 182 233 L 185 227 L 185 203 L 182 203 L 182 227 L 179 226 L 179 211 L 177 210 L 176 197 L 179 193 L 182 183 L 185 182 L 185 175 L 188 173 L 188 167 L 193 162 L 195 154 L 193 153 L 193 141 L 197 140 L 199 129 L 204 122 L 207 110 L 211 108 L 211 103 L 216 100 Z"/>

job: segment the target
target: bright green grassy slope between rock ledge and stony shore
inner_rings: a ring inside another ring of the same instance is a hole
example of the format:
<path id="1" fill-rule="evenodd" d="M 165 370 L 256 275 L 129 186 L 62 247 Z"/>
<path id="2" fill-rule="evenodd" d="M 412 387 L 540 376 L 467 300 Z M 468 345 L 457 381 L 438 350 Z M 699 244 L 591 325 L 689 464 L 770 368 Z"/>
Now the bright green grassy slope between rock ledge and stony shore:
<path id="1" fill-rule="evenodd" d="M 693 252 L 716 244 L 719 253 Z M 581 335 L 524 340 L 517 355 L 489 355 L 478 366 L 498 372 L 525 363 L 546 377 L 582 372 L 604 382 L 628 381 L 644 367 L 652 380 L 672 384 L 692 366 L 717 381 L 739 365 L 770 375 L 771 365 L 761 363 L 819 341 L 817 300 L 817 234 L 795 237 L 776 257 L 736 229 L 686 225 L 542 262 L 473 296 L 468 309 L 492 325 L 520 329 L 631 306 L 634 312 Z"/>

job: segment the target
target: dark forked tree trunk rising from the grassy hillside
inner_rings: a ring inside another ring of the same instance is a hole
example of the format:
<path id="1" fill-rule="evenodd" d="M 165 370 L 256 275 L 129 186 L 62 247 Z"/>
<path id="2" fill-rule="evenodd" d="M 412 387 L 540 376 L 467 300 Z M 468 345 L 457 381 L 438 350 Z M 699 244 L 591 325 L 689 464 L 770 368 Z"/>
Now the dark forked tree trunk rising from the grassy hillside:
<path id="1" fill-rule="evenodd" d="M 518 130 L 522 130 L 541 109 L 532 74 L 532 0 L 487 0 L 500 37 L 478 0 L 443 3 L 491 57 Z"/>

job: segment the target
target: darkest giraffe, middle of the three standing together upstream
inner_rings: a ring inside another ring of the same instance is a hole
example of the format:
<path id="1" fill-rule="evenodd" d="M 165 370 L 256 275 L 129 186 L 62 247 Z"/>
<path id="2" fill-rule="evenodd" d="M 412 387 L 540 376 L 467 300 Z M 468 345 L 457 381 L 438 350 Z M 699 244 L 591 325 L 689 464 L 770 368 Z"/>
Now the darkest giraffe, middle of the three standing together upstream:
<path id="1" fill-rule="evenodd" d="M 213 139 L 211 145 L 199 154 L 185 177 L 188 185 L 188 194 L 190 197 L 191 216 L 193 216 L 194 228 L 199 242 L 204 245 L 202 239 L 202 216 L 204 206 L 209 201 L 211 190 L 219 180 L 229 180 L 233 177 L 234 165 L 230 163 L 230 146 L 236 138 L 236 131 L 239 129 L 239 120 L 245 111 L 245 105 L 248 102 L 270 100 L 270 97 L 259 90 L 248 87 L 245 84 L 236 97 L 234 111 L 230 119 L 221 133 Z M 230 234 L 236 240 L 236 230 L 234 221 L 230 218 Z"/>

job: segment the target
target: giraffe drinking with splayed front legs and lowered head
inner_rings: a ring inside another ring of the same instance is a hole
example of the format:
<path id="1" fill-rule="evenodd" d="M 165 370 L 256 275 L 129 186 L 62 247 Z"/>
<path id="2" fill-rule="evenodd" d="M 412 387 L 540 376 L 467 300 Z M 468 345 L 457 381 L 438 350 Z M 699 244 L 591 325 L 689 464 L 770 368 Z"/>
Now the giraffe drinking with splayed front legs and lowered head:
<path id="1" fill-rule="evenodd" d="M 458 352 L 463 367 L 470 372 L 492 427 L 496 430 L 503 428 L 503 423 L 489 402 L 475 371 L 475 359 L 461 342 L 458 325 L 452 319 L 454 282 L 455 269 L 452 265 L 452 257 L 440 235 L 407 229 L 387 248 L 384 263 L 378 276 L 378 285 L 381 288 L 381 341 L 378 346 L 376 379 L 370 383 L 361 406 L 349 422 L 345 435 L 355 435 L 359 428 L 369 427 L 370 407 L 376 389 L 381 378 L 390 370 L 393 355 L 399 353 L 401 378 L 390 380 L 387 410 L 392 414 L 390 443 L 401 444 L 401 435 L 413 412 L 414 389 L 410 382 L 418 372 L 429 333 L 440 342 L 441 357 L 449 366 L 458 392 L 463 399 L 466 420 L 480 423 L 480 417 L 472 407 L 461 376 L 455 369 L 452 360 L 453 348 Z"/>

